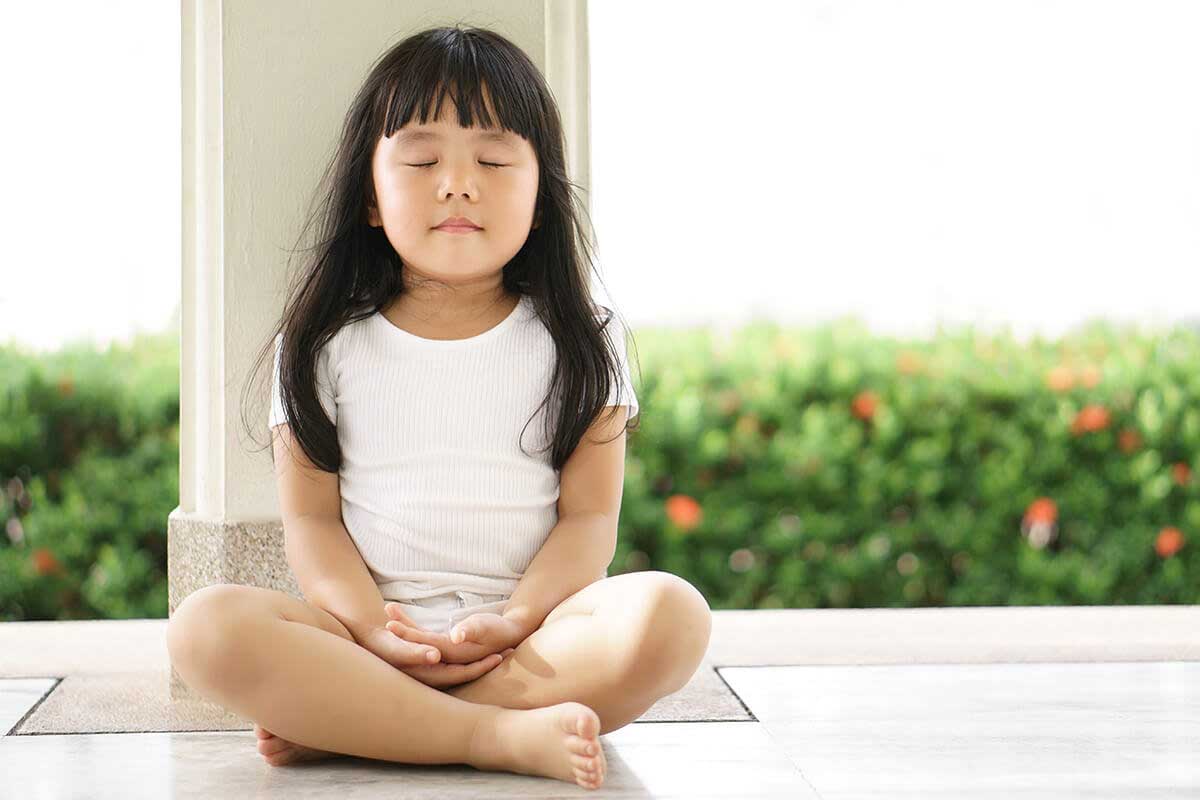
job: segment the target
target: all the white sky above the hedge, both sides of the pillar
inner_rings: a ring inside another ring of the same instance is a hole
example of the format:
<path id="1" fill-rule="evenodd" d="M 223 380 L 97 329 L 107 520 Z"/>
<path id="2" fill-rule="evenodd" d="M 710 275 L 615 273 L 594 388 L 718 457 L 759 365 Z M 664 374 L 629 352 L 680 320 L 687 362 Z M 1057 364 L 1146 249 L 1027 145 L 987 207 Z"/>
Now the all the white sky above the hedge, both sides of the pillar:
<path id="1" fill-rule="evenodd" d="M 1200 318 L 1200 4 L 589 13 L 592 216 L 606 296 L 635 326 L 857 315 L 1056 336 Z M 178 4 L 6 8 L 0 70 L 0 342 L 162 327 Z"/>

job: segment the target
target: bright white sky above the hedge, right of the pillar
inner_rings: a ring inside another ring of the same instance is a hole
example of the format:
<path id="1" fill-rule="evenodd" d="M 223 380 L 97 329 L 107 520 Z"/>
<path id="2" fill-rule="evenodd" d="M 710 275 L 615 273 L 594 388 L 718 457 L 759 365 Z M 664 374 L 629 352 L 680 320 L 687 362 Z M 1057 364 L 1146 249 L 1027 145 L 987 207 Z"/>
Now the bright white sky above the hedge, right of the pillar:
<path id="1" fill-rule="evenodd" d="M 631 323 L 1200 321 L 1200 4 L 697 7 L 589 4 Z"/>

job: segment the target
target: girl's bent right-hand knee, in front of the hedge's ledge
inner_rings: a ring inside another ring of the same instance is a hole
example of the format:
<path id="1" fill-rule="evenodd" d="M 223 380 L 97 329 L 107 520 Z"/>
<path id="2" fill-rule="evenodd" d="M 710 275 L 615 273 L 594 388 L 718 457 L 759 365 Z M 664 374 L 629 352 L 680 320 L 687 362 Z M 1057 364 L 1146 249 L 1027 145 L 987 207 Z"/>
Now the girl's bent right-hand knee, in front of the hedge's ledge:
<path id="1" fill-rule="evenodd" d="M 670 572 L 650 572 L 649 624 L 641 643 L 643 668 L 653 664 L 668 691 L 683 688 L 708 652 L 713 613 L 696 587 Z M 648 661 L 647 661 L 648 660 Z"/>

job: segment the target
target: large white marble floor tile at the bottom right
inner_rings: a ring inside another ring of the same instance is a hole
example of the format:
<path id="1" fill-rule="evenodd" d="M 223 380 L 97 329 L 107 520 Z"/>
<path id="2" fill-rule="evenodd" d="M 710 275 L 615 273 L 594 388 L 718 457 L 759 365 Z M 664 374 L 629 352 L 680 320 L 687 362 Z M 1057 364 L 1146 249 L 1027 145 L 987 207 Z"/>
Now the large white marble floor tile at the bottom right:
<path id="1" fill-rule="evenodd" d="M 720 673 L 823 800 L 1200 798 L 1200 662 Z"/>

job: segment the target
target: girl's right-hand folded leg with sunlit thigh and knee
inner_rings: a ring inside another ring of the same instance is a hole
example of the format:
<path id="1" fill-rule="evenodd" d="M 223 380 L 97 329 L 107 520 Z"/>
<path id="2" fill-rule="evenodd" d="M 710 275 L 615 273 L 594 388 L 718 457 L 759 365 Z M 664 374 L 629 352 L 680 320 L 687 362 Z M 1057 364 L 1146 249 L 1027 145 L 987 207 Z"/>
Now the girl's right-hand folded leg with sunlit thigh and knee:
<path id="1" fill-rule="evenodd" d="M 601 578 L 560 602 L 497 667 L 449 694 L 508 709 L 575 700 L 600 716 L 600 734 L 679 691 L 708 649 L 704 596 L 670 572 Z"/>

